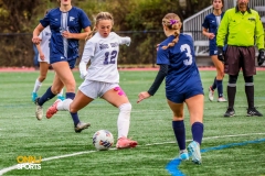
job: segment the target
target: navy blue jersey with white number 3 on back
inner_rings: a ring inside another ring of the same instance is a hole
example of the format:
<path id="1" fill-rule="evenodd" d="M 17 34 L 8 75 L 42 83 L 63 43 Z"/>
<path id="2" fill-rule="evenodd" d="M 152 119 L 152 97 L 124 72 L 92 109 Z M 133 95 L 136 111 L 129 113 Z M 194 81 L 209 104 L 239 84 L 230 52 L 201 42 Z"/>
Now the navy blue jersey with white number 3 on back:
<path id="1" fill-rule="evenodd" d="M 200 74 L 195 64 L 193 40 L 190 35 L 180 34 L 179 41 L 174 46 L 163 50 L 174 40 L 170 35 L 160 43 L 157 53 L 157 64 L 168 65 L 168 75 L 166 76 L 167 95 L 186 94 L 194 87 L 202 89 Z"/>

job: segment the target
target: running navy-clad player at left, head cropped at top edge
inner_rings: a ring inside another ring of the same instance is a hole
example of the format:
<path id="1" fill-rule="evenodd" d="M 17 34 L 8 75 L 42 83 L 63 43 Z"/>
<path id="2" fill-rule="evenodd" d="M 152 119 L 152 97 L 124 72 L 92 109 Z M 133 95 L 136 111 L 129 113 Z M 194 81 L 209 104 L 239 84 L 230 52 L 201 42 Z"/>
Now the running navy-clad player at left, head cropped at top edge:
<path id="1" fill-rule="evenodd" d="M 85 40 L 91 32 L 91 21 L 82 9 L 72 7 L 71 0 L 59 0 L 59 2 L 60 8 L 49 11 L 33 31 L 32 42 L 39 44 L 39 34 L 50 25 L 52 32 L 50 63 L 55 70 L 53 85 L 42 97 L 35 99 L 38 120 L 41 120 L 43 116 L 42 106 L 55 97 L 63 87 L 66 89 L 66 99 L 74 99 L 76 85 L 71 69 L 75 67 L 78 57 L 78 40 Z M 71 116 L 75 132 L 89 127 L 89 123 L 80 121 L 77 113 L 71 113 Z"/>

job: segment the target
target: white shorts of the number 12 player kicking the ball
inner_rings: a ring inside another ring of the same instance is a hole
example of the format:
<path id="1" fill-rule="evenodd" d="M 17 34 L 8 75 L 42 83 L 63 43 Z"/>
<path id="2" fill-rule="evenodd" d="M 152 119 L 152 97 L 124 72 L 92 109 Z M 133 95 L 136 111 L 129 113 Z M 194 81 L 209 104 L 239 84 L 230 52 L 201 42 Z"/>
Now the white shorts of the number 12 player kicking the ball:
<path id="1" fill-rule="evenodd" d="M 78 89 L 87 97 L 96 99 L 115 87 L 119 87 L 119 85 L 86 79 L 82 82 Z"/>

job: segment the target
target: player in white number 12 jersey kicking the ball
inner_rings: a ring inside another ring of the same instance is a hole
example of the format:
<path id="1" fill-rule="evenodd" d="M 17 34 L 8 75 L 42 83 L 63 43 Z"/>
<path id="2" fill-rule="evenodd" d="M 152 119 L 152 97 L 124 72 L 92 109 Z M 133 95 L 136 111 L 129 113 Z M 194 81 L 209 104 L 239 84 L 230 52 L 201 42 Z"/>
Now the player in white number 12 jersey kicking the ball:
<path id="1" fill-rule="evenodd" d="M 136 141 L 127 138 L 130 124 L 131 105 L 119 84 L 117 58 L 119 45 L 130 44 L 130 37 L 121 37 L 110 32 L 114 24 L 113 15 L 100 12 L 96 16 L 94 31 L 97 31 L 85 45 L 82 61 L 80 63 L 81 77 L 85 78 L 78 87 L 74 100 L 56 100 L 46 111 L 46 118 L 51 118 L 57 110 L 67 110 L 76 113 L 96 98 L 103 98 L 119 109 L 117 120 L 118 141 L 117 148 L 135 147 Z M 86 69 L 87 63 L 89 67 Z"/>

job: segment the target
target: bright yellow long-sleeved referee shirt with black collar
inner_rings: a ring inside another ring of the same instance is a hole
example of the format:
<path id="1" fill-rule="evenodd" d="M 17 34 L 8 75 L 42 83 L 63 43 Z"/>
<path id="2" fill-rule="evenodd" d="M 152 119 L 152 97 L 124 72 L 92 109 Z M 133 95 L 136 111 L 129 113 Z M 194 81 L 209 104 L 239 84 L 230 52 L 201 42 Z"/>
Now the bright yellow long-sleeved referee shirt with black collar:
<path id="1" fill-rule="evenodd" d="M 227 35 L 227 44 L 234 46 L 254 46 L 264 48 L 264 30 L 261 18 L 255 10 L 247 9 L 244 13 L 237 7 L 229 9 L 218 30 L 218 46 L 224 46 Z"/>

